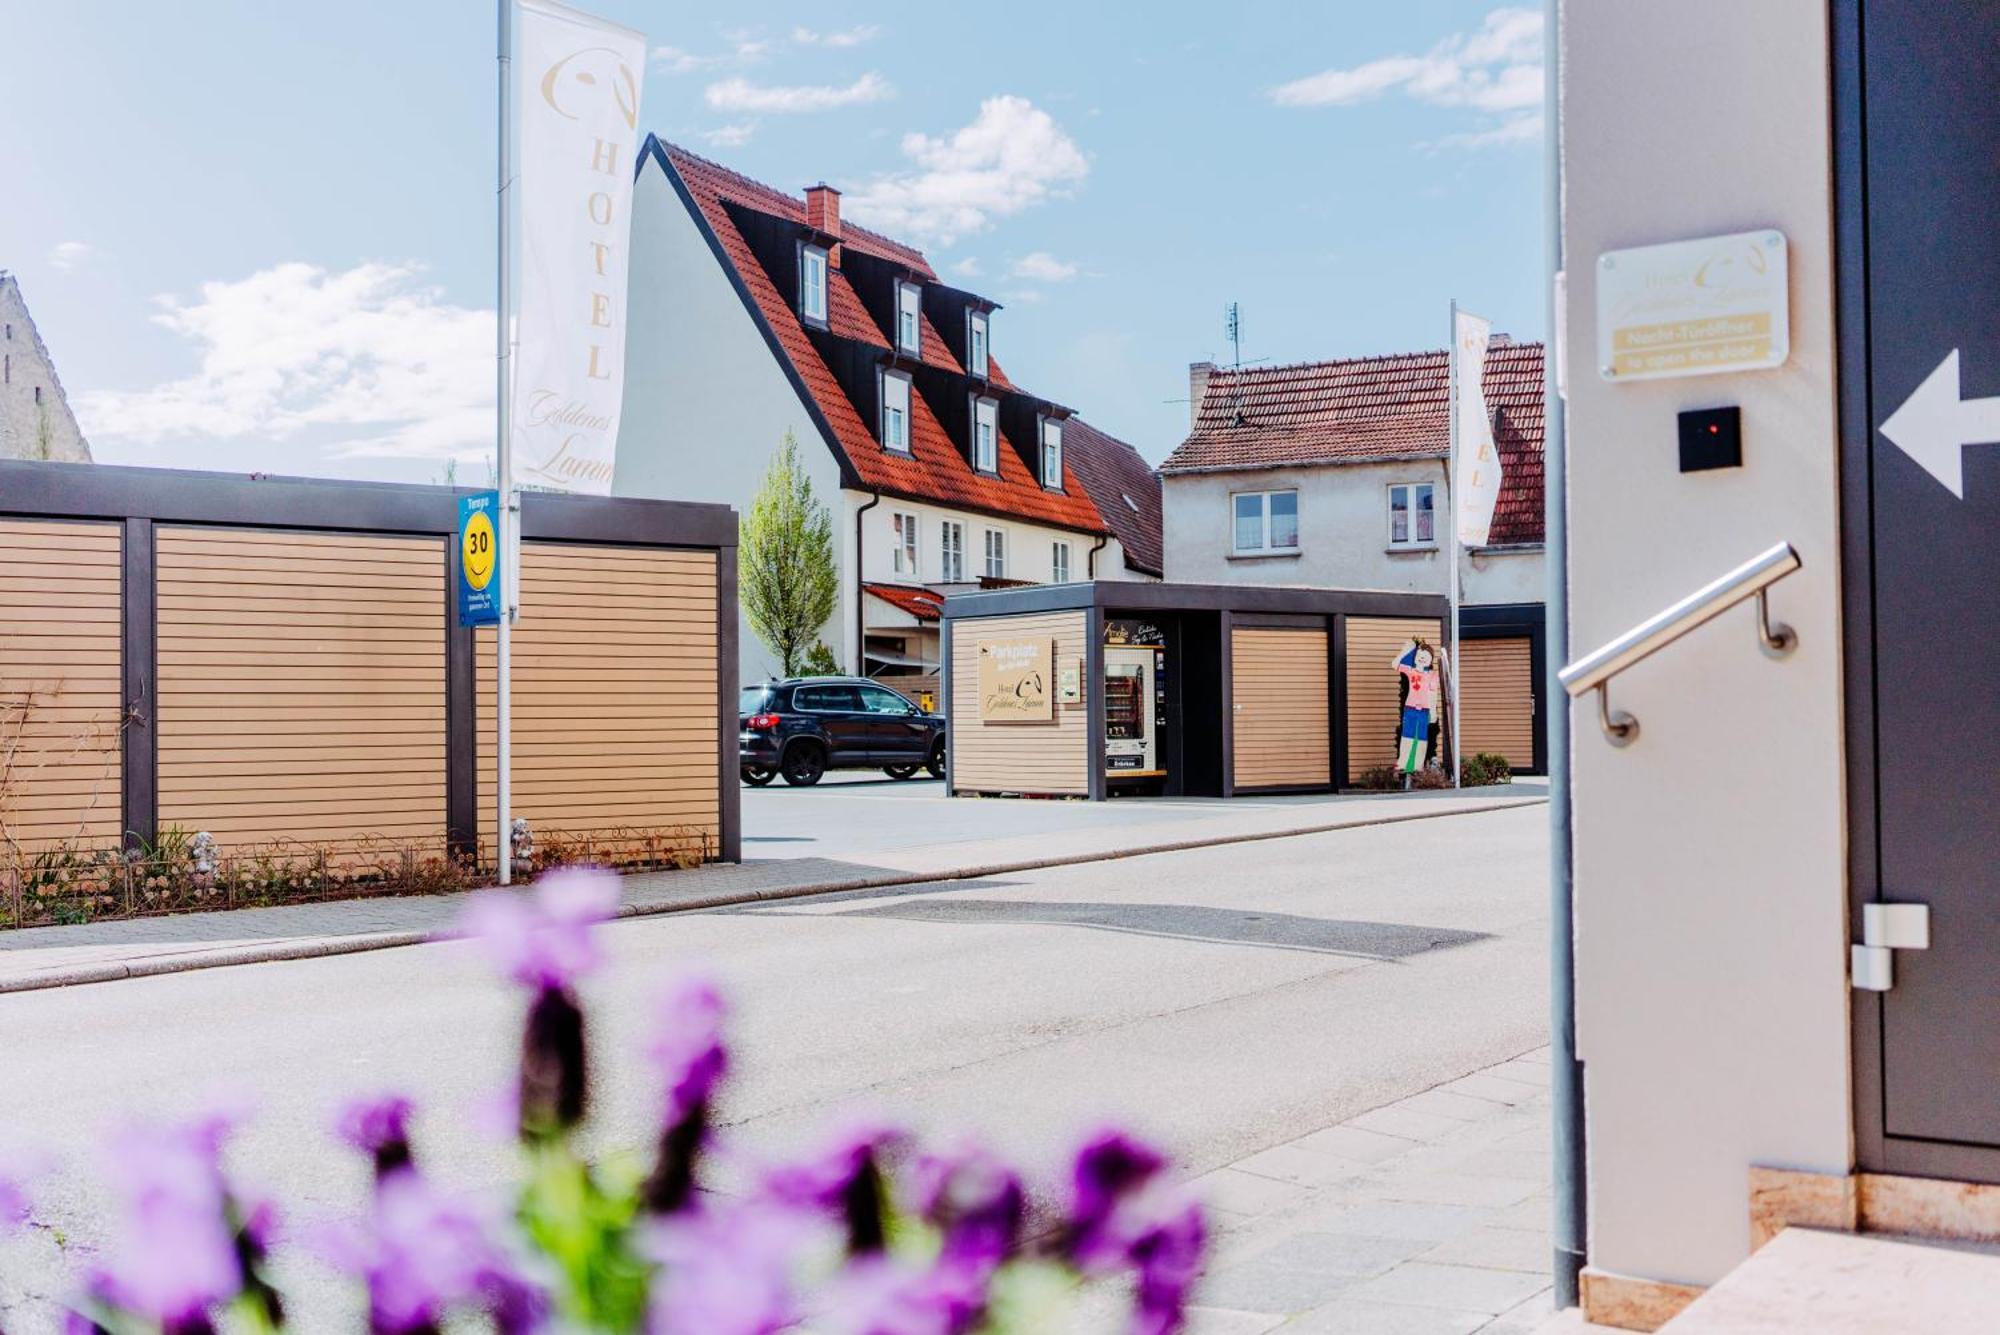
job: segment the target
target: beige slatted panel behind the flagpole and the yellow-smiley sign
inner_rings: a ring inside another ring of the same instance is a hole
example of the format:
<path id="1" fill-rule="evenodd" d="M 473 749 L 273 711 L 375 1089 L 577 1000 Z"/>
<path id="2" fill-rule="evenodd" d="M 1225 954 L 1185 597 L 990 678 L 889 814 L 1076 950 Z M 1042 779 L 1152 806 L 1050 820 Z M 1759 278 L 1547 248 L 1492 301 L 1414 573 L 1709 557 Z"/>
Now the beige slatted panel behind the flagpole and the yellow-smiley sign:
<path id="1" fill-rule="evenodd" d="M 530 542 L 514 626 L 514 813 L 572 835 L 722 837 L 716 558 Z M 478 636 L 480 829 L 492 843 L 494 636 Z"/>

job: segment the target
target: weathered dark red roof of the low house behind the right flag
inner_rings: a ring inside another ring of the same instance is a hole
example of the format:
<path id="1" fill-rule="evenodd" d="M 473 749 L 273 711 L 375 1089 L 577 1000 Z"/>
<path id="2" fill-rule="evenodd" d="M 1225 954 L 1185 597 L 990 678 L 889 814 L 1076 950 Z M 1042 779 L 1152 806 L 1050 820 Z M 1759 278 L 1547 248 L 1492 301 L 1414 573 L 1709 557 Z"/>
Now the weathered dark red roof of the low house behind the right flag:
<path id="1" fill-rule="evenodd" d="M 1542 542 L 1542 344 L 1496 340 L 1484 388 L 1502 472 L 1490 542 Z M 1160 472 L 1444 458 L 1448 398 L 1444 352 L 1218 368 Z"/>

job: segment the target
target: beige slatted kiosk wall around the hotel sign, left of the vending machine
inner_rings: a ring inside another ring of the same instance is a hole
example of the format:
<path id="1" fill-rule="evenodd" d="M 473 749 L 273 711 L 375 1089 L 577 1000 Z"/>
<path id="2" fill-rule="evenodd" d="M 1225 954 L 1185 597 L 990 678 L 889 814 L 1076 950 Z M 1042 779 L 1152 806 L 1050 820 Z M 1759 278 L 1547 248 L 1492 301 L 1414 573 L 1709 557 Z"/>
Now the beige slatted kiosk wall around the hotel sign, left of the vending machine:
<path id="1" fill-rule="evenodd" d="M 982 640 L 1048 636 L 1056 644 L 1056 675 L 1084 662 L 1084 614 L 1036 612 L 952 622 L 952 787 L 964 793 L 1090 793 L 1090 693 L 1076 703 L 1054 701 L 1054 719 L 980 721 L 978 679 Z"/>

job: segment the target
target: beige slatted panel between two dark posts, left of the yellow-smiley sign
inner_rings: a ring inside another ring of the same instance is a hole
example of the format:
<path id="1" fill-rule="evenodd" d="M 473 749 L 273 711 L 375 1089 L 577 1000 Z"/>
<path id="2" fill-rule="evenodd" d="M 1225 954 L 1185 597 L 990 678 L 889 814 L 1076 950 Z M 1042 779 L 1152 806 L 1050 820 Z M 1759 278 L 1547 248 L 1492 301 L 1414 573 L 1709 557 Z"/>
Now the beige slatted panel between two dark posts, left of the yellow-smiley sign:
<path id="1" fill-rule="evenodd" d="M 162 526 L 154 552 L 162 827 L 444 837 L 442 538 Z"/>

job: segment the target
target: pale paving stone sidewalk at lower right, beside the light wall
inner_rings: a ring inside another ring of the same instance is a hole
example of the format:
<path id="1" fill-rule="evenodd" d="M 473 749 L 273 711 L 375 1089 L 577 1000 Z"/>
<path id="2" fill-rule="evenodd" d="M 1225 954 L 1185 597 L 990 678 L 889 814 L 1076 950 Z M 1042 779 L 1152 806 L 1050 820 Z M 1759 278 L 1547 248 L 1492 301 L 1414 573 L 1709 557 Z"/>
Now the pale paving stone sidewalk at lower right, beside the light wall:
<path id="1" fill-rule="evenodd" d="M 1528 1335 L 1550 1299 L 1548 1049 L 1198 1177 L 1190 1335 Z"/>

